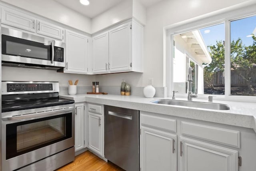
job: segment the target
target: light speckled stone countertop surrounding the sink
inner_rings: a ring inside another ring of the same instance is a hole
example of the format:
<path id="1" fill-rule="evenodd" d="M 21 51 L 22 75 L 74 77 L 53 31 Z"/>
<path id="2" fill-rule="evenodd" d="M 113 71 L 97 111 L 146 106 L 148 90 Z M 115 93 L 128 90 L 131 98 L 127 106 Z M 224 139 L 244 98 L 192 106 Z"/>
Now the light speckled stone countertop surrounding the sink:
<path id="1" fill-rule="evenodd" d="M 252 128 L 256 132 L 256 104 L 237 101 L 220 101 L 214 100 L 214 103 L 224 103 L 230 105 L 230 110 L 202 109 L 196 107 L 186 107 L 178 105 L 165 105 L 150 103 L 161 97 L 145 98 L 141 96 L 124 96 L 124 95 L 94 95 L 94 94 L 77 94 L 77 95 L 60 95 L 60 98 L 73 99 L 75 103 L 91 102 L 103 105 L 112 105 L 140 111 L 153 113 L 162 113 L 177 117 L 210 121 L 239 127 Z M 165 97 L 164 99 L 171 99 Z M 177 100 L 186 100 L 177 98 Z M 204 101 L 206 99 L 193 99 L 193 101 Z"/>

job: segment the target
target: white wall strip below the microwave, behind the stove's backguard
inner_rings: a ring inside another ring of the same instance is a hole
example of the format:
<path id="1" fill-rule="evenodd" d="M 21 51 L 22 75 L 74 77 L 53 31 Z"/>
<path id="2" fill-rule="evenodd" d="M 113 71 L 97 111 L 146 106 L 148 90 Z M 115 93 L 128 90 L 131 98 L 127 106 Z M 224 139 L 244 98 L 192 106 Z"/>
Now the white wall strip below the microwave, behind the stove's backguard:
<path id="1" fill-rule="evenodd" d="M 2 81 L 53 81 L 59 82 L 60 86 L 68 86 L 68 80 L 72 80 L 73 84 L 79 80 L 78 86 L 91 86 L 92 82 L 95 81 L 95 76 L 2 66 Z"/>

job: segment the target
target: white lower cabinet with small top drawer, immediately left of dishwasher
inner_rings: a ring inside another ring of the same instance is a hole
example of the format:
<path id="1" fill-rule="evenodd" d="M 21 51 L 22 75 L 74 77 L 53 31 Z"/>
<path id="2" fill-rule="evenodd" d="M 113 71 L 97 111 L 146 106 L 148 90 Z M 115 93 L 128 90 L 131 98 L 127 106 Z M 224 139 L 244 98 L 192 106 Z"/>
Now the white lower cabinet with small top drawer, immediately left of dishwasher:
<path id="1" fill-rule="evenodd" d="M 104 157 L 103 106 L 88 104 L 88 148 Z"/>

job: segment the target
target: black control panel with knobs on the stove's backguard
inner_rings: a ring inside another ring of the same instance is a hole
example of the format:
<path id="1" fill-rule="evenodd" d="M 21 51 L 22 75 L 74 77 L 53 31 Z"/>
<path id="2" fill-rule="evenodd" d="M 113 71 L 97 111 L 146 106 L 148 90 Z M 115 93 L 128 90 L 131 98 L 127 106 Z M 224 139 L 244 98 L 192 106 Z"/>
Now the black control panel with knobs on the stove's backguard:
<path id="1" fill-rule="evenodd" d="M 14 91 L 50 91 L 53 90 L 51 83 L 14 83 L 7 84 L 7 92 Z"/>

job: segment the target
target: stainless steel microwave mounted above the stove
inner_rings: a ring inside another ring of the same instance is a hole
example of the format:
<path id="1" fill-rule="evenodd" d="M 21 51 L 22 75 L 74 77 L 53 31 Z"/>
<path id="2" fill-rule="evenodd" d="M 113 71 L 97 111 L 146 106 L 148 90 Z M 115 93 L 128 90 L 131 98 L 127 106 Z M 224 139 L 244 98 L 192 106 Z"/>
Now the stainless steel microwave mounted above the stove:
<path id="1" fill-rule="evenodd" d="M 65 43 L 1 27 L 2 65 L 57 70 L 65 67 Z"/>

